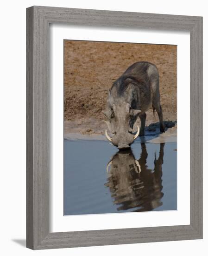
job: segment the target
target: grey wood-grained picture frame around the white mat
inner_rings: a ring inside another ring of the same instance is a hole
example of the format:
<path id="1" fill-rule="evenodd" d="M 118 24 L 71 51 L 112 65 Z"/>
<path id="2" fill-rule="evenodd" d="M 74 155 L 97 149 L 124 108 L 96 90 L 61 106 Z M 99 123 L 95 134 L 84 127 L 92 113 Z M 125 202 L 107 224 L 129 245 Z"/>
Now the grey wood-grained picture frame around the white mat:
<path id="1" fill-rule="evenodd" d="M 38 6 L 26 12 L 26 246 L 52 249 L 202 238 L 202 17 Z M 190 32 L 190 225 L 49 232 L 50 23 Z"/>

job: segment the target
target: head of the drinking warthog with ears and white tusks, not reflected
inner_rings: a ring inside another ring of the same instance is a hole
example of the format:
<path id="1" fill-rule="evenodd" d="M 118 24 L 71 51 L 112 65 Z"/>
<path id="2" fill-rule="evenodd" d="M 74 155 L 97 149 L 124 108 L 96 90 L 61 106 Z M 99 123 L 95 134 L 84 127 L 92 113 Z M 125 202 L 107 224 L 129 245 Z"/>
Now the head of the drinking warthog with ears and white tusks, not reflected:
<path id="1" fill-rule="evenodd" d="M 137 133 L 133 134 L 133 125 L 141 111 L 133 109 L 131 103 L 125 101 L 123 97 L 116 99 L 110 94 L 107 99 L 107 108 L 102 111 L 107 117 L 107 126 L 112 137 L 105 132 L 106 137 L 119 149 L 129 148 L 133 141 L 139 136 L 139 126 Z"/>

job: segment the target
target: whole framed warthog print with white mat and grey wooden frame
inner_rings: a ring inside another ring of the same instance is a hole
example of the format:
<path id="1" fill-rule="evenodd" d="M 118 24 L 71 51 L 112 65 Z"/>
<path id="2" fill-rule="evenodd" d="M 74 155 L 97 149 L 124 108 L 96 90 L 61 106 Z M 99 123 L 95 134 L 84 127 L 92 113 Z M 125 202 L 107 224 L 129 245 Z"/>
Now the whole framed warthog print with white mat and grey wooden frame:
<path id="1" fill-rule="evenodd" d="M 27 8 L 27 247 L 202 238 L 202 17 Z"/>

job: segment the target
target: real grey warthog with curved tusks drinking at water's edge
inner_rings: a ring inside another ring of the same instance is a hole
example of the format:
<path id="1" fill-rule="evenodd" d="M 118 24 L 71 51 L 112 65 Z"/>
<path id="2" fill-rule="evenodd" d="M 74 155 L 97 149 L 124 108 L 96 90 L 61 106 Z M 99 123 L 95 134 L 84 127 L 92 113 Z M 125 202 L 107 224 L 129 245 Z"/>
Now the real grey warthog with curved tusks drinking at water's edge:
<path id="1" fill-rule="evenodd" d="M 160 105 L 159 74 L 154 64 L 146 61 L 136 62 L 113 83 L 107 97 L 106 109 L 102 113 L 107 117 L 107 126 L 113 135 L 105 132 L 107 139 L 119 149 L 129 148 L 138 136 L 145 135 L 145 111 L 152 105 L 158 112 L 160 131 L 164 132 L 163 113 Z M 133 134 L 133 125 L 137 118 L 141 126 Z"/>

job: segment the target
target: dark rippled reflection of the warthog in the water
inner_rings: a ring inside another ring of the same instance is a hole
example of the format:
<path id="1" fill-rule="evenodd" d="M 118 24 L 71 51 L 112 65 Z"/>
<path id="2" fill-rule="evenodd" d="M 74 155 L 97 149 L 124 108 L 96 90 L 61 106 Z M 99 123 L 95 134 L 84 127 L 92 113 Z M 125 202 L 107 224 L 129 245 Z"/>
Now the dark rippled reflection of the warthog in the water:
<path id="1" fill-rule="evenodd" d="M 107 164 L 108 182 L 114 204 L 120 205 L 118 210 L 151 211 L 163 203 L 162 164 L 164 143 L 160 144 L 159 157 L 154 157 L 154 169 L 146 165 L 147 151 L 145 143 L 141 143 L 141 156 L 136 160 L 132 150 L 119 151 Z M 136 209 L 135 209 L 136 208 Z"/>

